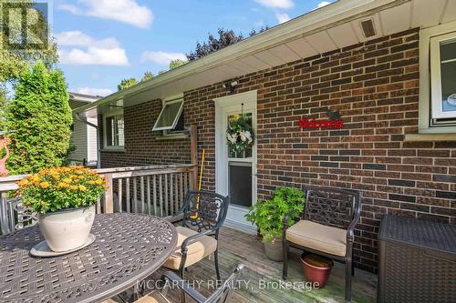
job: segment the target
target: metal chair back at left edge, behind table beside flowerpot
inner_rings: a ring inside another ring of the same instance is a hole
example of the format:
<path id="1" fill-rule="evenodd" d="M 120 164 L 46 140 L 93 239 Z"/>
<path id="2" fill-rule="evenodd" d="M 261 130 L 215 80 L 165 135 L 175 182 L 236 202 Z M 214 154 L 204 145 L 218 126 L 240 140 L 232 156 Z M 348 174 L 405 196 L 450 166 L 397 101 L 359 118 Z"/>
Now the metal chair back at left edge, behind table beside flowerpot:
<path id="1" fill-rule="evenodd" d="M 0 200 L 1 235 L 36 225 L 38 218 L 22 203 L 20 197 L 2 197 Z"/>

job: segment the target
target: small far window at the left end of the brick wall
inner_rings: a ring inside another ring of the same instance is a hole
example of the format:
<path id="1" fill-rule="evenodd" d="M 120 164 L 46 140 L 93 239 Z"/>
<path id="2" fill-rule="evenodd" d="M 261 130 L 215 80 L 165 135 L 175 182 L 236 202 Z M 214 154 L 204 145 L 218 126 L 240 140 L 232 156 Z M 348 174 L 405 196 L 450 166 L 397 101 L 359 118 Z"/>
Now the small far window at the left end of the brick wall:
<path id="1" fill-rule="evenodd" d="M 125 145 L 123 110 L 103 115 L 103 138 L 105 149 L 123 149 Z"/>

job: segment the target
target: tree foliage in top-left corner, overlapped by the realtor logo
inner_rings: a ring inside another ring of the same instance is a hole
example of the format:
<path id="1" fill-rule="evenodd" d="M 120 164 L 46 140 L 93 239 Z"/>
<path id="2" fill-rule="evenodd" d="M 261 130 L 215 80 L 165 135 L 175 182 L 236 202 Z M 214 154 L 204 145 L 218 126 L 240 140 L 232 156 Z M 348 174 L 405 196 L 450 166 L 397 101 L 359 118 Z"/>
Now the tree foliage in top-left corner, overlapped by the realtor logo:
<path id="1" fill-rule="evenodd" d="M 33 8 L 33 2 L 30 0 L 0 0 L 2 13 L 6 12 L 10 5 L 22 6 L 26 9 Z M 5 129 L 5 110 L 9 98 L 7 85 L 14 86 L 21 72 L 30 64 L 36 62 L 38 58 L 48 68 L 57 62 L 57 45 L 54 39 L 49 36 L 49 28 L 44 15 L 36 11 L 37 22 L 29 28 L 39 39 L 48 39 L 47 47 L 36 48 L 33 45 L 26 45 L 26 52 L 20 45 L 9 45 L 5 47 L 8 41 L 20 41 L 23 36 L 20 35 L 22 27 L 21 18 L 10 18 L 8 25 L 0 28 L 0 45 L 4 45 L 0 50 L 0 129 Z M 13 36 L 16 35 L 16 36 Z"/>

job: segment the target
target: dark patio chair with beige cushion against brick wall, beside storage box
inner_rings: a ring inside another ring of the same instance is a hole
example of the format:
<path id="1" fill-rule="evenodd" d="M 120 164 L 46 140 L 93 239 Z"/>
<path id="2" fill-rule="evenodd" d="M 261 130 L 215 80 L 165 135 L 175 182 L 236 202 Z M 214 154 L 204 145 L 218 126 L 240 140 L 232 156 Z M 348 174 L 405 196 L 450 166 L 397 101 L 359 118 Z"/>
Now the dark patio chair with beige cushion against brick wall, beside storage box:
<path id="1" fill-rule="evenodd" d="M 358 191 L 330 187 L 305 187 L 304 217 L 289 227 L 284 217 L 284 272 L 287 278 L 289 247 L 316 253 L 346 265 L 345 299 L 351 300 L 352 255 L 355 226 L 361 211 Z"/>

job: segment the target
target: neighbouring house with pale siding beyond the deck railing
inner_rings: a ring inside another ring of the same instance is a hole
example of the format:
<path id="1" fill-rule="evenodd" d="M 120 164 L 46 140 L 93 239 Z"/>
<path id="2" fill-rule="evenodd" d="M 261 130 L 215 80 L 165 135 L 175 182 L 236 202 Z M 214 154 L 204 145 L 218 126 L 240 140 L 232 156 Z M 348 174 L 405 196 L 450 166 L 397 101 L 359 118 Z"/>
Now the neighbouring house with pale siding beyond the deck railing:
<path id="1" fill-rule="evenodd" d="M 71 109 L 80 106 L 86 106 L 97 101 L 100 96 L 88 96 L 84 94 L 72 93 L 69 94 L 69 106 Z M 96 112 L 96 111 L 95 111 Z M 71 153 L 70 160 L 76 165 L 97 166 L 98 161 L 98 144 L 97 144 L 97 117 L 88 117 L 87 119 L 78 119 L 76 116 L 73 119 L 71 134 L 71 144 L 76 149 Z M 85 123 L 88 122 L 94 126 Z"/>

